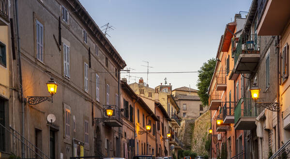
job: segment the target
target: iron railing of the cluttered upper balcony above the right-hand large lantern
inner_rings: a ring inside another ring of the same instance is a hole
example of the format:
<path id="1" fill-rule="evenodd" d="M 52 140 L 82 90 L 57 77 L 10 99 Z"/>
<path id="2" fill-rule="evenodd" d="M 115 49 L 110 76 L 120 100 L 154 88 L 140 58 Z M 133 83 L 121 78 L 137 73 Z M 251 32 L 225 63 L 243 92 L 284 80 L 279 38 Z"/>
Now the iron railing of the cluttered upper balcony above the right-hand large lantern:
<path id="1" fill-rule="evenodd" d="M 239 38 L 236 50 L 233 51 L 234 64 L 236 64 L 240 54 L 254 54 L 259 53 L 260 50 L 260 36 L 256 34 L 242 34 Z"/>

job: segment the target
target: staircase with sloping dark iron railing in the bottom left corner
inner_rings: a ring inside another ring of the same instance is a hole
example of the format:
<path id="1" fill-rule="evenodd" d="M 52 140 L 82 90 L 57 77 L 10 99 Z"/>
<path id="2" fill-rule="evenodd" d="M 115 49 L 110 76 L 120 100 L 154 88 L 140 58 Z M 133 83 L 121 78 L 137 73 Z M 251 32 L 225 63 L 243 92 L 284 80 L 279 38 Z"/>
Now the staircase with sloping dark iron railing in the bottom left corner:
<path id="1" fill-rule="evenodd" d="M 6 128 L 2 124 L 0 124 L 0 152 L 1 155 L 5 154 L 1 159 L 9 157 L 9 154 L 21 159 L 50 159 L 15 129 Z"/>

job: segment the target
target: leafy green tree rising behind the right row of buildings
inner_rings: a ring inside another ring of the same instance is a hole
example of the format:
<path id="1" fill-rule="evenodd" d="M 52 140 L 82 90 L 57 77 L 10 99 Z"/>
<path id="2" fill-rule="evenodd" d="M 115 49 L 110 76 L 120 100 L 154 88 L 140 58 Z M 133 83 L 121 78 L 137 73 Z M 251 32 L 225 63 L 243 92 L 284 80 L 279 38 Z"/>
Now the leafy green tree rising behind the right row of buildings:
<path id="1" fill-rule="evenodd" d="M 214 58 L 208 60 L 198 70 L 198 96 L 204 106 L 208 105 L 209 95 L 207 94 L 208 88 L 211 84 L 214 75 L 214 67 L 216 60 Z"/>

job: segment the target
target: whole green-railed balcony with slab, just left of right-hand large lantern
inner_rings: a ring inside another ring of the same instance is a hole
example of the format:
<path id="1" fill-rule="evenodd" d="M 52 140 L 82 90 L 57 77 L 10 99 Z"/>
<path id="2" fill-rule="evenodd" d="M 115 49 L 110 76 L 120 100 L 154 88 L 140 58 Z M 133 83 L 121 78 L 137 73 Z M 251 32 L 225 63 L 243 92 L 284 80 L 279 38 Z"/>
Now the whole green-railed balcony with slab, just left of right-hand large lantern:
<path id="1" fill-rule="evenodd" d="M 251 98 L 241 98 L 234 111 L 235 129 L 252 130 L 256 127 L 257 109 Z"/>

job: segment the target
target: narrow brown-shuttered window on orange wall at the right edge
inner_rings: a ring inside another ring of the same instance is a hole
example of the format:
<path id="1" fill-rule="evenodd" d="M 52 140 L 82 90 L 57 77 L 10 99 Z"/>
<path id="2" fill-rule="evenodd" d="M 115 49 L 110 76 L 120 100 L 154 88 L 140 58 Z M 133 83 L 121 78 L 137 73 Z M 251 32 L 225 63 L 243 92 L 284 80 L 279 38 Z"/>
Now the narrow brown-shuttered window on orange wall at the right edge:
<path id="1" fill-rule="evenodd" d="M 288 43 L 282 48 L 282 81 L 285 81 L 285 79 L 289 76 L 289 45 Z"/>

